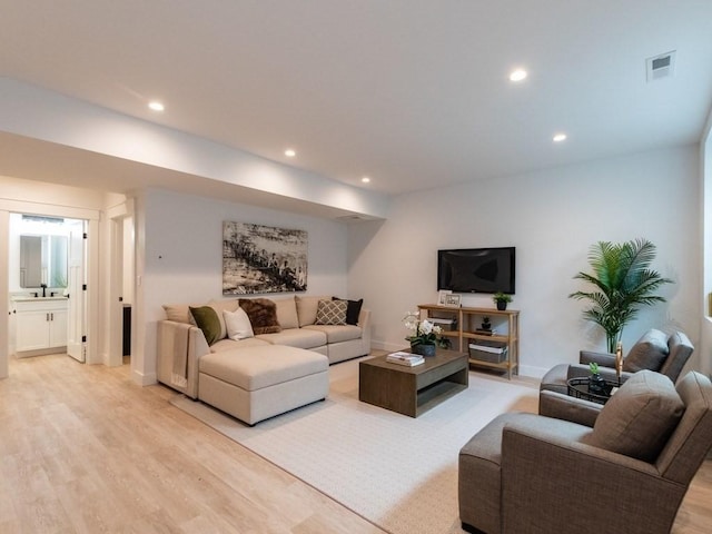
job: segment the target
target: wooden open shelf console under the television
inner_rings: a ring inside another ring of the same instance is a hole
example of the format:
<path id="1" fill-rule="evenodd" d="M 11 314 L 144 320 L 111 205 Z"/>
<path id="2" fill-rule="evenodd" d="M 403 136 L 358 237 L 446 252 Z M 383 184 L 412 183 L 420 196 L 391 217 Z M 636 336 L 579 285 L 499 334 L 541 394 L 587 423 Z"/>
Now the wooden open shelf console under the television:
<path id="1" fill-rule="evenodd" d="M 496 308 L 454 308 L 437 304 L 418 305 L 422 318 L 455 319 L 456 328 L 444 329 L 443 335 L 453 338 L 453 349 L 469 352 L 471 340 L 501 342 L 506 344 L 506 358 L 501 363 L 485 362 L 469 357 L 472 365 L 506 370 L 507 378 L 520 372 L 520 312 L 517 309 L 498 310 Z M 490 317 L 496 334 L 477 334 L 483 317 Z"/>

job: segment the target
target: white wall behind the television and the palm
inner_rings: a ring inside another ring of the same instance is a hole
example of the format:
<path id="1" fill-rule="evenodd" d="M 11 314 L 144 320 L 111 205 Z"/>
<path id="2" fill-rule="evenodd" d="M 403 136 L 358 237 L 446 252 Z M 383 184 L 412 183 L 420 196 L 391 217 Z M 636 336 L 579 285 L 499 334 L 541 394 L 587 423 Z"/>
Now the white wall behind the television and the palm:
<path id="1" fill-rule="evenodd" d="M 573 276 L 589 270 L 591 245 L 644 237 L 657 247 L 653 268 L 675 284 L 660 291 L 669 303 L 625 328 L 624 347 L 653 326 L 681 328 L 696 343 L 698 152 L 683 147 L 397 197 L 387 220 L 349 228 L 349 294 L 372 309 L 375 345 L 400 347 L 404 312 L 436 300 L 437 249 L 515 246 L 510 306 L 522 312 L 522 374 L 541 376 L 577 360 L 582 348 L 605 347 L 581 317 L 585 303 L 567 298 L 582 287 Z M 466 295 L 463 305 L 493 303 Z"/>

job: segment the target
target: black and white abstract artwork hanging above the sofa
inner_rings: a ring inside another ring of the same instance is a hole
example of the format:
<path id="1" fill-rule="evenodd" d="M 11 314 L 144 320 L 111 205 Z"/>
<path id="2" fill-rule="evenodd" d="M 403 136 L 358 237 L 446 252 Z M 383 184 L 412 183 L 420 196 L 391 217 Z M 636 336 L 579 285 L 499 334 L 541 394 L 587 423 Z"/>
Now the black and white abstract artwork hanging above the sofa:
<path id="1" fill-rule="evenodd" d="M 222 295 L 307 289 L 305 230 L 222 222 Z"/>

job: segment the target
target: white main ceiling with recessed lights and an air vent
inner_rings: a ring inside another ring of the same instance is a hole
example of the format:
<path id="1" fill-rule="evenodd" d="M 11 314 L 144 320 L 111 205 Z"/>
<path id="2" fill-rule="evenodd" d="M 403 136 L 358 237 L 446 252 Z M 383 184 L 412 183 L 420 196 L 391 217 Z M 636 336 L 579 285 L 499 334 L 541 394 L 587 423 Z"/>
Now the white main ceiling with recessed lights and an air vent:
<path id="1" fill-rule="evenodd" d="M 712 103 L 712 0 L 0 0 L 0 13 L 2 76 L 389 195 L 695 142 Z M 646 83 L 645 59 L 671 50 L 675 76 Z M 517 66 L 530 77 L 515 86 Z"/>

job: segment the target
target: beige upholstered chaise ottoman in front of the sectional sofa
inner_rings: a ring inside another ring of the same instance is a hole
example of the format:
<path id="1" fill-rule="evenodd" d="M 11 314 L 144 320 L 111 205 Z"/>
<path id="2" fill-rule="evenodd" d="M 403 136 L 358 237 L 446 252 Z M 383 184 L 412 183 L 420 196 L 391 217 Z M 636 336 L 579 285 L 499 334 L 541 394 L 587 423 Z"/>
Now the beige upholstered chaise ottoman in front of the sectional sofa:
<path id="1" fill-rule="evenodd" d="M 326 398 L 328 367 L 326 356 L 284 345 L 210 353 L 198 363 L 198 398 L 254 425 Z"/>

